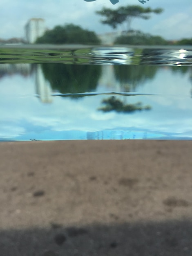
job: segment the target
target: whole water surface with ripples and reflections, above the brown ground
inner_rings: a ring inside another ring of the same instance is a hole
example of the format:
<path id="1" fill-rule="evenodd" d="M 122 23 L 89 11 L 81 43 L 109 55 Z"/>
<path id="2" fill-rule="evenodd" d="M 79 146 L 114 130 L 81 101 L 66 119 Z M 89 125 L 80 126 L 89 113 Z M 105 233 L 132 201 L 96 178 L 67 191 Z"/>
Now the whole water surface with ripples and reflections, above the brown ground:
<path id="1" fill-rule="evenodd" d="M 192 139 L 192 48 L 0 47 L 0 141 L 65 139 Z"/>

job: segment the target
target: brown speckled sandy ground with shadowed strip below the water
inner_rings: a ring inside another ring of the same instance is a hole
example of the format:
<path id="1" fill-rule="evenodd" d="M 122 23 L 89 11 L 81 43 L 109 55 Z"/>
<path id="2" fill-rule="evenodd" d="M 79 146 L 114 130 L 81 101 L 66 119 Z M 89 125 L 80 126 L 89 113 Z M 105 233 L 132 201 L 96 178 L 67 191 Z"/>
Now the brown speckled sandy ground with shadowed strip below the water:
<path id="1" fill-rule="evenodd" d="M 191 256 L 191 141 L 0 143 L 1 256 Z"/>

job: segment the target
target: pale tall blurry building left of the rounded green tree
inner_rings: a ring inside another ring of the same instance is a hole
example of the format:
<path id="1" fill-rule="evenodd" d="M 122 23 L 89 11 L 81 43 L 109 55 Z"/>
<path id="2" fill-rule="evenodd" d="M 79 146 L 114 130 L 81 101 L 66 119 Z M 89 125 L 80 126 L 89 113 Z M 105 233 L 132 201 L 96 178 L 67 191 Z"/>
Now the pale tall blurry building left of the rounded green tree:
<path id="1" fill-rule="evenodd" d="M 46 28 L 44 19 L 30 19 L 25 26 L 27 43 L 35 43 L 36 39 L 45 33 L 45 30 Z"/>

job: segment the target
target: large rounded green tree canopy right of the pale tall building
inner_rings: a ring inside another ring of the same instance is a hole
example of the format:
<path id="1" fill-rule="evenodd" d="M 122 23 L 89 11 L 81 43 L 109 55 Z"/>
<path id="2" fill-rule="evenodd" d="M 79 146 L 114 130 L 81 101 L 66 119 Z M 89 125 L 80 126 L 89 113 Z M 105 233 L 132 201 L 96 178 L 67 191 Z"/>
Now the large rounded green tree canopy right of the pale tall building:
<path id="1" fill-rule="evenodd" d="M 73 24 L 56 26 L 48 30 L 45 34 L 36 40 L 36 43 L 67 44 L 67 43 L 84 43 L 100 44 L 100 39 L 95 32 L 83 29 Z"/>

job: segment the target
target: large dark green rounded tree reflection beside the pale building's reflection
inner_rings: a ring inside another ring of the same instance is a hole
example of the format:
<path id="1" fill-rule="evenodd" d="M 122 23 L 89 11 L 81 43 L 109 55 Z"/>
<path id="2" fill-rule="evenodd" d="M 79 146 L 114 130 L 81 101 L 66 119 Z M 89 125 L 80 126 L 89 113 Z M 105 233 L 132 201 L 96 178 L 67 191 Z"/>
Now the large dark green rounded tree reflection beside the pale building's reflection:
<path id="1" fill-rule="evenodd" d="M 99 65 L 42 64 L 45 79 L 54 91 L 60 93 L 85 93 L 96 90 L 101 74 Z"/>

